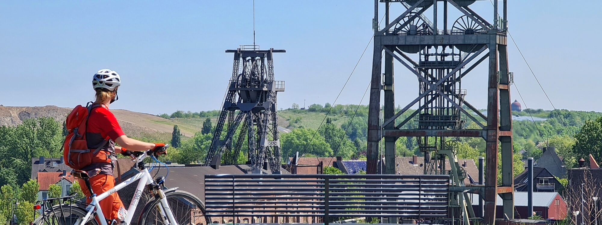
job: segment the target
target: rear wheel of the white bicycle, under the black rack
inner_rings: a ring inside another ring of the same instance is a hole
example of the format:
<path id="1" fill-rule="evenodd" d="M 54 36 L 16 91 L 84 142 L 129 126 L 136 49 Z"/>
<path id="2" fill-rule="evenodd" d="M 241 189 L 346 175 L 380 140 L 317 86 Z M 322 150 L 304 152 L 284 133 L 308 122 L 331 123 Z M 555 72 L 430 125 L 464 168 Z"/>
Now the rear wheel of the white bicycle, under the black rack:
<path id="1" fill-rule="evenodd" d="M 34 220 L 34 225 L 70 225 L 85 216 L 87 211 L 76 205 L 55 205 Z M 96 217 L 96 216 L 95 216 Z M 90 220 L 85 225 L 99 225 L 98 220 Z"/>

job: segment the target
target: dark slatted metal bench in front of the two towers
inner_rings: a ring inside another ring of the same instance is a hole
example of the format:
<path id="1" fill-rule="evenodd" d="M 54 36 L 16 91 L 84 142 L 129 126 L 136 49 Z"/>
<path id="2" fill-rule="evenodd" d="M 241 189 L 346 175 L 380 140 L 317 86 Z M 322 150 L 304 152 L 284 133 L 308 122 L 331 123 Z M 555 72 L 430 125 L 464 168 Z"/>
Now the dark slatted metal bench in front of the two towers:
<path id="1" fill-rule="evenodd" d="M 446 218 L 449 179 L 448 175 L 205 175 L 206 216 L 213 221 L 229 218 L 232 223 L 246 219 L 324 224 L 359 217 Z"/>

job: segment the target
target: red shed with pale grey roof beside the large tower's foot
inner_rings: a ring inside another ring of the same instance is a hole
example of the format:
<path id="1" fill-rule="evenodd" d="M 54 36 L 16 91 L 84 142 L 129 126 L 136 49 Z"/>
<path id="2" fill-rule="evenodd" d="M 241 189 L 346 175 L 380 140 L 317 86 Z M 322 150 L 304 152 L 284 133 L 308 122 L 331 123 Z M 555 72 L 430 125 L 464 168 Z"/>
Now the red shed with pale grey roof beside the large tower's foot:
<path id="1" fill-rule="evenodd" d="M 475 211 L 478 210 L 479 201 L 477 194 L 470 194 L 471 202 Z M 514 193 L 514 218 L 526 219 L 530 216 L 527 211 L 527 192 L 515 191 Z M 495 209 L 495 218 L 505 218 L 500 196 L 497 196 L 497 209 Z M 556 192 L 533 192 L 533 212 L 544 219 L 564 220 L 566 217 L 566 202 L 562 196 Z"/>

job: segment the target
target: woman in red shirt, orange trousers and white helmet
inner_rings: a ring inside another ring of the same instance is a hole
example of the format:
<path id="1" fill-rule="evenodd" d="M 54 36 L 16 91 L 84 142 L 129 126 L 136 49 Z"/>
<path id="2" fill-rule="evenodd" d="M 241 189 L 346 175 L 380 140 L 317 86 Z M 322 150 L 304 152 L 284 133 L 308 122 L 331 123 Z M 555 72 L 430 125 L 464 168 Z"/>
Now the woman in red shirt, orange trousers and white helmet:
<path id="1" fill-rule="evenodd" d="M 92 86 L 96 91 L 96 101 L 93 103 L 92 111 L 87 121 L 86 141 L 88 148 L 96 149 L 102 147 L 103 151 L 99 151 L 98 154 L 93 155 L 92 164 L 84 167 L 82 170 L 100 170 L 97 175 L 90 174 L 92 176 L 90 184 L 92 184 L 92 190 L 95 194 L 102 194 L 115 186 L 113 161 L 116 160 L 116 154 L 129 156 L 131 155 L 131 151 L 158 150 L 165 146 L 164 143 L 141 142 L 125 136 L 119 123 L 117 123 L 117 119 L 109 110 L 109 105 L 119 99 L 117 97 L 117 89 L 119 89 L 120 85 L 121 79 L 119 74 L 113 70 L 99 70 L 92 78 Z M 115 146 L 115 143 L 120 146 Z M 102 146 L 103 144 L 104 146 Z M 157 153 L 165 154 L 166 152 Z M 92 200 L 90 199 L 90 191 L 88 191 L 85 185 L 80 185 L 80 187 L 89 203 Z M 125 208 L 117 192 L 103 199 L 99 202 L 99 205 L 101 206 L 102 214 L 108 220 L 120 222 L 125 219 L 123 218 L 125 216 L 123 215 Z"/>

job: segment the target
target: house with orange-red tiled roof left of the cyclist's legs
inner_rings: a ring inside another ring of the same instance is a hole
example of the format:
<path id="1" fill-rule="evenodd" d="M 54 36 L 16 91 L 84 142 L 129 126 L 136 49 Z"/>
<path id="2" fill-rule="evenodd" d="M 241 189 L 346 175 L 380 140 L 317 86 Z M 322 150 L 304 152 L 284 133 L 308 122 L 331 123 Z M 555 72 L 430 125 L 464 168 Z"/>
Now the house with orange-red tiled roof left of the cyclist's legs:
<path id="1" fill-rule="evenodd" d="M 52 184 L 61 185 L 61 196 L 67 196 L 69 193 L 69 189 L 73 182 L 75 182 L 75 178 L 69 174 L 67 174 L 66 170 L 63 172 L 38 172 L 36 175 L 37 182 L 39 187 L 37 200 L 48 199 L 48 188 Z"/>

